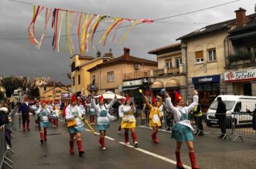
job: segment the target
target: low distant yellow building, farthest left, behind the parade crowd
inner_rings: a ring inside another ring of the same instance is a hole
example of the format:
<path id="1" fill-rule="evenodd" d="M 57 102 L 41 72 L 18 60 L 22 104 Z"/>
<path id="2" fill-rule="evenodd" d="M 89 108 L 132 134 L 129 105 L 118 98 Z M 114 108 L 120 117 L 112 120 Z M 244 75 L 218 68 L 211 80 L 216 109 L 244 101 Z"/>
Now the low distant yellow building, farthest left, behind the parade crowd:
<path id="1" fill-rule="evenodd" d="M 46 85 L 38 86 L 40 100 L 62 100 L 64 93 L 70 93 L 70 86 L 62 83 L 47 83 Z"/>

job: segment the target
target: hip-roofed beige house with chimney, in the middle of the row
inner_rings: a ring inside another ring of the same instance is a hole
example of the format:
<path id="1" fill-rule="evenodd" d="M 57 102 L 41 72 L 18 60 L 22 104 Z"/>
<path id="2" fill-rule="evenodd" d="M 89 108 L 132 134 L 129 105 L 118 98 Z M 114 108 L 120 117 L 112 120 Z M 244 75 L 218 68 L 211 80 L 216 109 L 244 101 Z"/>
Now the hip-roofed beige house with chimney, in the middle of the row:
<path id="1" fill-rule="evenodd" d="M 152 68 L 157 68 L 156 62 L 130 56 L 130 49 L 125 48 L 123 56 L 88 69 L 90 83 L 94 86 L 90 91 L 94 94 L 106 91 L 128 93 L 133 100 L 138 95 L 138 88 L 143 87 L 145 90 L 148 86 L 149 89 L 148 76 Z"/>

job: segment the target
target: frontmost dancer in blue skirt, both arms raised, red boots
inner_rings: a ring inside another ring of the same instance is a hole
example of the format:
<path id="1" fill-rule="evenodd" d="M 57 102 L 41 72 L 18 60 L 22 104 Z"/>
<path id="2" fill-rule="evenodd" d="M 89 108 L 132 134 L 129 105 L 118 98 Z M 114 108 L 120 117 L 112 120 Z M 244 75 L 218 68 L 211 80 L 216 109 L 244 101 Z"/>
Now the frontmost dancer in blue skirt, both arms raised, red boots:
<path id="1" fill-rule="evenodd" d="M 177 106 L 172 105 L 171 97 L 169 97 L 169 93 L 165 92 L 166 96 L 166 106 L 171 110 L 174 116 L 174 120 L 176 123 L 172 127 L 172 138 L 176 140 L 176 167 L 184 168 L 183 163 L 180 160 L 180 148 L 184 141 L 189 148 L 189 158 L 191 161 L 191 167 L 193 169 L 199 168 L 196 164 L 196 157 L 193 149 L 193 127 L 190 124 L 188 119 L 188 114 L 198 103 L 198 93 L 194 90 L 195 95 L 193 96 L 193 103 L 189 106 L 185 106 L 184 100 L 182 96 L 179 95 L 178 92 L 175 91 L 175 100 Z"/>

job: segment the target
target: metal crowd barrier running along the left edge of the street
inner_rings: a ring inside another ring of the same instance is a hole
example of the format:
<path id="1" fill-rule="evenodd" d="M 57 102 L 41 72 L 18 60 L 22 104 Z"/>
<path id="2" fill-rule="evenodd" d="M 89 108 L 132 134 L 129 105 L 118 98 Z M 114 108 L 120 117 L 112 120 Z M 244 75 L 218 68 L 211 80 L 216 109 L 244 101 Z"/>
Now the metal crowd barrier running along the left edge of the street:
<path id="1" fill-rule="evenodd" d="M 10 123 L 4 124 L 1 128 L 2 130 L 0 130 L 0 168 L 2 168 L 4 165 L 6 165 L 9 168 L 12 168 L 12 164 L 13 162 L 9 159 L 9 157 L 7 157 L 7 152 L 8 150 L 10 152 L 12 152 L 13 154 L 15 153 L 11 147 L 9 146 L 12 145 L 12 137 L 13 134 L 15 134 L 15 132 L 12 130 L 12 128 L 14 128 L 15 126 L 15 113 L 16 113 L 17 107 L 15 106 L 15 108 L 12 110 L 11 113 L 9 113 L 9 118 L 12 118 L 12 121 Z M 7 139 L 6 139 L 7 138 Z"/>

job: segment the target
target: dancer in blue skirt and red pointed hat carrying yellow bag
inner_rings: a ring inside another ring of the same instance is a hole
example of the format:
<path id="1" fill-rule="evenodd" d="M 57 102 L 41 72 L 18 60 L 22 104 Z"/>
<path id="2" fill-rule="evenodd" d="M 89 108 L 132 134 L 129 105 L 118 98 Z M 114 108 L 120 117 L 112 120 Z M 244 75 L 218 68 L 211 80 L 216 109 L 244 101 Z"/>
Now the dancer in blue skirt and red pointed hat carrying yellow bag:
<path id="1" fill-rule="evenodd" d="M 75 136 L 77 138 L 77 148 L 79 155 L 81 156 L 84 154 L 81 140 L 81 132 L 83 131 L 84 126 L 81 118 L 84 117 L 84 115 L 84 111 L 80 110 L 79 106 L 77 106 L 77 98 L 73 94 L 70 100 L 70 105 L 68 105 L 66 109 L 67 127 L 70 133 L 70 154 L 74 154 L 73 139 Z"/>

